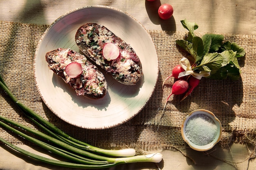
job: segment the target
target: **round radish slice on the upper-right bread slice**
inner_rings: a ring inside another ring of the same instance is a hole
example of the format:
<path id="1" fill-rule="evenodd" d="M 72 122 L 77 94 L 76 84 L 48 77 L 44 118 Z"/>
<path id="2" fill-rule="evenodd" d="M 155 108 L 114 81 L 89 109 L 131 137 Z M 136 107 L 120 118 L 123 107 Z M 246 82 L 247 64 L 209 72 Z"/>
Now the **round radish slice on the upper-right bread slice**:
<path id="1" fill-rule="evenodd" d="M 103 57 L 108 60 L 115 60 L 119 57 L 120 51 L 119 48 L 113 44 L 113 43 L 107 43 L 103 46 L 103 51 L 102 51 Z"/>

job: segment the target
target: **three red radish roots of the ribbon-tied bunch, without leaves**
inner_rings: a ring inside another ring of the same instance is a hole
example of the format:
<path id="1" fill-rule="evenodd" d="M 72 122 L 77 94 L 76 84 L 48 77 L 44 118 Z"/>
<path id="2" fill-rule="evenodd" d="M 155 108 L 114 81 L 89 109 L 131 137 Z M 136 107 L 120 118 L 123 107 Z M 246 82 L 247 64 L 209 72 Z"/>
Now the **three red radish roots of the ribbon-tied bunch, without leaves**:
<path id="1" fill-rule="evenodd" d="M 198 86 L 200 79 L 197 79 L 197 78 L 193 77 L 192 75 L 186 75 L 184 77 L 179 77 L 180 73 L 182 73 L 184 71 L 185 70 L 180 66 L 180 64 L 178 64 L 177 66 L 175 66 L 173 68 L 172 74 L 164 80 L 164 82 L 162 84 L 162 88 L 163 88 L 166 80 L 168 80 L 169 78 L 174 77 L 176 80 L 173 83 L 171 94 L 166 99 L 166 104 L 168 102 L 168 99 L 171 97 L 171 95 L 185 94 L 184 97 L 181 99 L 181 101 L 182 101 L 186 97 L 188 97 L 188 95 L 190 95 L 192 93 L 193 89 L 196 86 Z"/>

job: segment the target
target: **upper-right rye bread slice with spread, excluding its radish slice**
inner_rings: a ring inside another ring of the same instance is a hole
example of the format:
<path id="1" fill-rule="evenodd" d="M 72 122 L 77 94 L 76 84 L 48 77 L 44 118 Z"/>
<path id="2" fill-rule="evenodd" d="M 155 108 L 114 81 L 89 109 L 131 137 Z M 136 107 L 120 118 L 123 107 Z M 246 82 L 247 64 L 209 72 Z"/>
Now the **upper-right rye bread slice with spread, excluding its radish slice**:
<path id="1" fill-rule="evenodd" d="M 105 26 L 86 23 L 77 30 L 75 40 L 85 55 L 118 82 L 135 85 L 143 75 L 141 61 L 132 47 Z M 106 43 L 114 43 L 118 46 L 120 56 L 117 59 L 108 61 L 103 57 L 102 50 Z"/>

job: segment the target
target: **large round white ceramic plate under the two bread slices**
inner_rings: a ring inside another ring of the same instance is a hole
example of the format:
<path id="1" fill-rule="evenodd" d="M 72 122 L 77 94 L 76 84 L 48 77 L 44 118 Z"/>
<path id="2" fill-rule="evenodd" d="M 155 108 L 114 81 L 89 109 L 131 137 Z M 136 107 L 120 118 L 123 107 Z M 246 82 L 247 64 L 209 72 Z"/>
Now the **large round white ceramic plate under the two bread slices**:
<path id="1" fill-rule="evenodd" d="M 77 96 L 61 78 L 49 70 L 45 54 L 57 48 L 79 51 L 74 36 L 86 22 L 103 24 L 130 44 L 139 56 L 144 77 L 126 86 L 106 75 L 108 93 L 102 99 Z M 120 125 L 141 111 L 150 99 L 158 78 L 155 46 L 144 27 L 127 13 L 105 6 L 70 11 L 58 18 L 43 34 L 35 53 L 36 86 L 45 104 L 64 121 L 88 129 Z"/>

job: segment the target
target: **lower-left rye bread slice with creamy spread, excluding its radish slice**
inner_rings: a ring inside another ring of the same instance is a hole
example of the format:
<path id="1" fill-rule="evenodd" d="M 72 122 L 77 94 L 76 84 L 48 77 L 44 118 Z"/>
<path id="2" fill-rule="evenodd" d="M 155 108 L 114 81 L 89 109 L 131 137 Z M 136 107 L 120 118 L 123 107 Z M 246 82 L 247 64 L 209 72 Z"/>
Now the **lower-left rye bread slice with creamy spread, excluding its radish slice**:
<path id="1" fill-rule="evenodd" d="M 84 55 L 70 49 L 59 48 L 46 53 L 45 59 L 49 69 L 69 84 L 77 95 L 90 99 L 100 99 L 106 95 L 107 82 L 103 73 Z M 82 73 L 76 78 L 71 78 L 65 71 L 66 66 L 71 62 L 77 62 L 82 66 Z"/>

